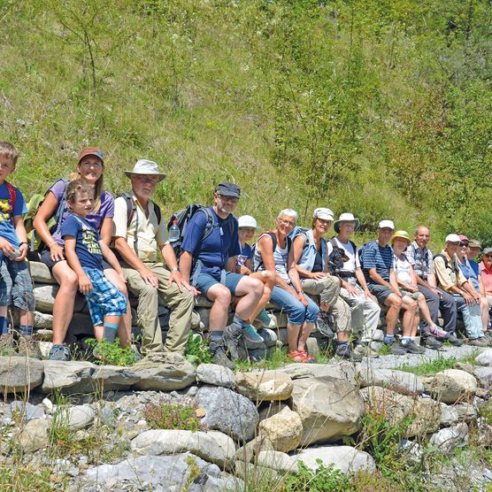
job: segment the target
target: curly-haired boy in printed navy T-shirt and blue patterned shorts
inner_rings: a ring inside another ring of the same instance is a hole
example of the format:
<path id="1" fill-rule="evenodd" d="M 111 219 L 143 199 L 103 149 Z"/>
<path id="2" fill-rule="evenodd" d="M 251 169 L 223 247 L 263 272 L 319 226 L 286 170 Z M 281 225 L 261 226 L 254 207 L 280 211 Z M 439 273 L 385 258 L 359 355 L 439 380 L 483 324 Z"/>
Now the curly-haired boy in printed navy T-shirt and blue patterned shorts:
<path id="1" fill-rule="evenodd" d="M 66 188 L 66 202 L 72 211 L 61 227 L 66 260 L 79 277 L 79 289 L 86 296 L 96 340 L 112 343 L 119 319 L 127 312 L 127 299 L 104 277 L 103 258 L 121 278 L 123 271 L 99 233 L 85 219 L 94 207 L 93 190 L 88 183 L 71 181 Z"/>

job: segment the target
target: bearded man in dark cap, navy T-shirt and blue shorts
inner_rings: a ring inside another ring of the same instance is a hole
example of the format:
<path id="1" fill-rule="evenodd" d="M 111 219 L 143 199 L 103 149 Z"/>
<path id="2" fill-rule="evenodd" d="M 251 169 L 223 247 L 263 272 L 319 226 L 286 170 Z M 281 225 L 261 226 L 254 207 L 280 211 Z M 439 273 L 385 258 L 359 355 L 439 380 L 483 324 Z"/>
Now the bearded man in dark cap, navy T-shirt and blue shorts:
<path id="1" fill-rule="evenodd" d="M 227 358 L 239 357 L 238 343 L 243 336 L 252 343 L 263 339 L 246 322 L 263 296 L 263 283 L 240 273 L 234 273 L 235 257 L 240 254 L 238 224 L 234 211 L 241 189 L 234 183 L 220 183 L 215 190 L 214 204 L 196 211 L 189 220 L 181 245 L 180 270 L 183 280 L 191 281 L 213 303 L 210 311 L 210 349 L 217 364 L 234 367 Z M 204 230 L 211 214 L 211 234 Z M 240 297 L 234 320 L 227 327 L 227 312 L 232 297 Z"/>

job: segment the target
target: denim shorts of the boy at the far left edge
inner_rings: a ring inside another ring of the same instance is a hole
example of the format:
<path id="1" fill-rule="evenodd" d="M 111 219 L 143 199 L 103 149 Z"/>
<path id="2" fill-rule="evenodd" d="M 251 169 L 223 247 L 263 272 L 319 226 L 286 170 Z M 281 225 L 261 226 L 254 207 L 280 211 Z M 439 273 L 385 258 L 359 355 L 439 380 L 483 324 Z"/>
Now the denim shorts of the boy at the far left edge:
<path id="1" fill-rule="evenodd" d="M 0 271 L 0 306 L 12 304 L 24 311 L 35 311 L 33 280 L 27 262 L 4 258 Z"/>

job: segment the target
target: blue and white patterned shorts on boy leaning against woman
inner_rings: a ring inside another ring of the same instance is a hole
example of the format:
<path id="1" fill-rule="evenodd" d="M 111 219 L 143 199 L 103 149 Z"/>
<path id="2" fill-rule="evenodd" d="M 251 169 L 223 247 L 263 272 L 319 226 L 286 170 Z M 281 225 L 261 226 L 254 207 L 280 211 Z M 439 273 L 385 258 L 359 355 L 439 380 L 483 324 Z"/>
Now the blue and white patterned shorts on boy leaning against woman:
<path id="1" fill-rule="evenodd" d="M 121 316 L 127 313 L 127 297 L 114 287 L 102 270 L 83 267 L 92 282 L 92 290 L 86 296 L 88 311 L 95 327 L 102 325 L 104 316 Z"/>

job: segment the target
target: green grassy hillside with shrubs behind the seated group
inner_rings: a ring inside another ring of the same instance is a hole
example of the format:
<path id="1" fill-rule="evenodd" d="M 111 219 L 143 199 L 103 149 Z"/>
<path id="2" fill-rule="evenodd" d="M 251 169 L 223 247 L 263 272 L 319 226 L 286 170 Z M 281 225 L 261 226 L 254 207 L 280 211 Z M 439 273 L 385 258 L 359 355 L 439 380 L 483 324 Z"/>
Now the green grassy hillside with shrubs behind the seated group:
<path id="1" fill-rule="evenodd" d="M 262 227 L 284 207 L 425 222 L 492 243 L 486 0 L 8 0 L 2 138 L 27 196 L 108 156 L 156 160 L 171 212 L 224 179 Z M 360 238 L 362 240 L 363 238 Z"/>

